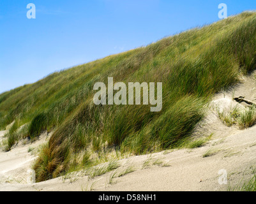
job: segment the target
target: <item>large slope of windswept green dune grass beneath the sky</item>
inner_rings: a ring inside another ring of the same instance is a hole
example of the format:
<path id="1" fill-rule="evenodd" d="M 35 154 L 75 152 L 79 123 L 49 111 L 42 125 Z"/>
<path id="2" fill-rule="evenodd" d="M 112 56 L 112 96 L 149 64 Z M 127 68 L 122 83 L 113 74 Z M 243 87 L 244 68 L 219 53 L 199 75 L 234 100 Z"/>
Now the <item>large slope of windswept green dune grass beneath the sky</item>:
<path id="1" fill-rule="evenodd" d="M 204 117 L 209 98 L 255 65 L 256 13 L 245 12 L 53 73 L 0 95 L 0 128 L 15 120 L 6 150 L 20 138 L 54 131 L 34 164 L 41 181 L 107 160 L 112 150 L 143 154 L 177 147 Z M 125 84 L 162 82 L 162 110 L 150 112 L 151 105 L 94 105 L 93 85 L 107 84 L 108 77 Z"/>

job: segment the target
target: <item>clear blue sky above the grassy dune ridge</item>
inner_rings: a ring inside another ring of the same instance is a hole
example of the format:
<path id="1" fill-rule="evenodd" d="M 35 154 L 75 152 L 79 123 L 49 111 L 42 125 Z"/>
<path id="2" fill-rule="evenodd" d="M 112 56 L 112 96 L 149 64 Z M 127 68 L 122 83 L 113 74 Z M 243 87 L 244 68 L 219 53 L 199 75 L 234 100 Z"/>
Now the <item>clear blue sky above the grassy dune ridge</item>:
<path id="1" fill-rule="evenodd" d="M 0 0 L 0 93 L 215 22 L 220 3 L 228 16 L 256 9 L 255 0 Z"/>

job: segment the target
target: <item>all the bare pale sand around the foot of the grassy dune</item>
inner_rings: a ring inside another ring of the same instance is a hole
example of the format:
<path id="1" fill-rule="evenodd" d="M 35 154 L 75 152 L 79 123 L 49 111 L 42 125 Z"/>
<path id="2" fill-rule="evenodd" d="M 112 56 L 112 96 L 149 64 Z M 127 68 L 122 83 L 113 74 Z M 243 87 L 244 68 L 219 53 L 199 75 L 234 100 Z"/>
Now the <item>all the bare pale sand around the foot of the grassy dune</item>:
<path id="1" fill-rule="evenodd" d="M 230 92 L 217 94 L 214 100 L 225 98 L 229 101 L 234 95 L 245 96 L 255 103 L 255 78 L 244 78 L 243 84 L 234 87 Z M 70 177 L 36 184 L 13 184 L 0 180 L 0 191 L 226 191 L 241 180 L 251 178 L 253 167 L 256 166 L 256 126 L 243 131 L 236 126 L 228 128 L 222 124 L 216 113 L 211 111 L 204 122 L 204 126 L 197 131 L 198 135 L 215 134 L 203 147 L 121 159 L 121 167 L 117 170 L 94 179 L 88 179 L 80 171 Z M 1 134 L 3 135 L 3 132 L 0 132 Z M 42 142 L 45 142 L 45 138 L 33 145 Z M 0 152 L 0 175 L 2 173 L 4 177 L 15 177 L 15 174 L 19 173 L 26 177 L 26 170 L 34 159 L 34 156 L 27 152 L 27 148 L 28 145 L 19 145 L 11 152 Z M 203 157 L 206 152 L 212 154 Z M 145 166 L 147 161 L 150 163 Z M 114 172 L 118 175 L 129 166 L 133 166 L 135 171 L 123 177 L 114 176 L 110 183 Z M 227 171 L 228 184 L 219 183 L 222 176 L 219 174 L 220 170 Z"/>

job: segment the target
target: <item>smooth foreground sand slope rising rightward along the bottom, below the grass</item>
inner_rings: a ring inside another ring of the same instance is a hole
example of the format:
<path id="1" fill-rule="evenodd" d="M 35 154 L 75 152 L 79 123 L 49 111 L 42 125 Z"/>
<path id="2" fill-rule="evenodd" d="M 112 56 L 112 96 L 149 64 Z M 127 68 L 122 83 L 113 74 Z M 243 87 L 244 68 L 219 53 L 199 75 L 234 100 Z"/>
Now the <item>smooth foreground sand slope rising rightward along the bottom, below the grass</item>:
<path id="1" fill-rule="evenodd" d="M 234 135 L 212 140 L 206 146 L 193 150 L 159 152 L 151 158 L 162 159 L 170 166 L 142 168 L 150 156 L 135 156 L 122 159 L 124 165 L 133 165 L 136 171 L 123 177 L 114 178 L 107 184 L 111 173 L 88 180 L 87 176 L 72 175 L 66 180 L 57 178 L 37 184 L 0 184 L 1 191 L 225 191 L 227 186 L 220 185 L 219 170 L 227 170 L 229 186 L 243 178 L 251 177 L 251 166 L 256 164 L 256 127 L 239 131 Z M 209 149 L 216 150 L 213 156 L 202 157 Z M 6 163 L 6 165 L 8 165 Z M 117 171 L 121 171 L 117 169 Z"/>

